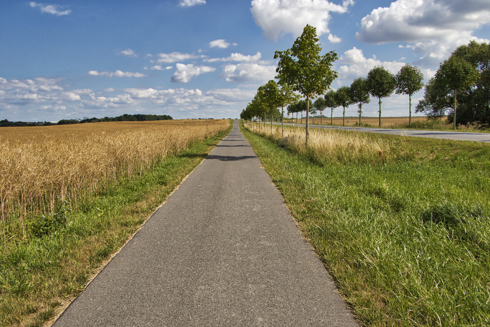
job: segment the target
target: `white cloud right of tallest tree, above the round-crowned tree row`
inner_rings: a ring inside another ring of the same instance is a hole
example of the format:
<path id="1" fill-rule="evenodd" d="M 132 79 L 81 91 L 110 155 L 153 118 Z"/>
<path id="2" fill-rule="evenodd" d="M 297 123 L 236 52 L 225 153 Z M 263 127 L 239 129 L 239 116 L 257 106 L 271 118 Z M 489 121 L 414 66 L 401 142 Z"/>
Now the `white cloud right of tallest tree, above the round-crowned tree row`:
<path id="1" fill-rule="evenodd" d="M 404 62 L 398 61 L 381 61 L 374 58 L 366 58 L 363 54 L 363 50 L 356 47 L 347 50 L 339 58 L 339 63 L 346 65 L 338 68 L 339 78 L 336 79 L 337 84 L 350 85 L 355 78 L 360 76 L 368 76 L 368 72 L 375 66 L 384 66 L 387 70 L 396 74 L 400 68 L 405 65 Z"/>

